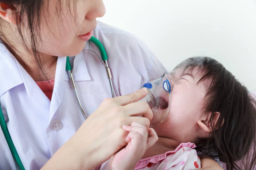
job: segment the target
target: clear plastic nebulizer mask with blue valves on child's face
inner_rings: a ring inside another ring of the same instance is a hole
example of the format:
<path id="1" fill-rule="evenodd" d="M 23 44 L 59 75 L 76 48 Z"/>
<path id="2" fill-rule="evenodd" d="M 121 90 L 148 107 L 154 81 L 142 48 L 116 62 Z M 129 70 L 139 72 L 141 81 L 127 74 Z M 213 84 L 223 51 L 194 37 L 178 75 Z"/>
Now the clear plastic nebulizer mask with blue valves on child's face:
<path id="1" fill-rule="evenodd" d="M 167 73 L 162 77 L 145 83 L 141 88 L 147 88 L 148 94 L 140 101 L 148 103 L 153 112 L 150 125 L 163 123 L 170 112 L 172 81 Z"/>

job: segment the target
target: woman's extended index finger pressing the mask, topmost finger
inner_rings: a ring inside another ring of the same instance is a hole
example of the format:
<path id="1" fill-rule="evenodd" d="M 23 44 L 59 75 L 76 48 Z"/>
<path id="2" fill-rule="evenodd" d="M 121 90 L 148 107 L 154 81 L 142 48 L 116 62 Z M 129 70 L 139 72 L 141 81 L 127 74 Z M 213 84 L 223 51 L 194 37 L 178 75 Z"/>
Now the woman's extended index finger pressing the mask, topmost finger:
<path id="1" fill-rule="evenodd" d="M 138 91 L 135 91 L 132 94 L 124 95 L 124 96 L 118 96 L 118 97 L 115 97 L 113 99 L 118 105 L 124 106 L 126 104 L 134 103 L 134 102 L 139 101 L 140 99 L 145 97 L 147 94 L 148 94 L 147 88 L 142 88 L 142 89 L 139 89 Z"/>

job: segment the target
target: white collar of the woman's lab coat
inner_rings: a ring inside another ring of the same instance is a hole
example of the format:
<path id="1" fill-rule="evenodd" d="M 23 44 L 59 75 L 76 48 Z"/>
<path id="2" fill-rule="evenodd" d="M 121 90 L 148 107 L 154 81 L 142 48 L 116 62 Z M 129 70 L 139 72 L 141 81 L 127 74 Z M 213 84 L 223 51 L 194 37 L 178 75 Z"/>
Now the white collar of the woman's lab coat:
<path id="1" fill-rule="evenodd" d="M 20 65 L 6 46 L 1 43 L 1 41 L 0 52 L 0 78 L 2 81 L 4 81 L 4 83 L 1 83 L 0 85 L 0 96 L 2 96 L 6 91 L 22 83 L 24 83 L 28 96 L 33 94 L 35 90 L 33 86 L 36 84 L 35 81 L 33 81 L 32 77 Z M 58 65 L 61 65 L 63 68 L 58 67 Z M 61 83 L 63 80 L 69 81 L 68 73 L 65 70 L 65 65 L 66 57 L 58 57 L 55 82 L 57 81 Z M 84 61 L 83 52 L 76 55 L 73 65 L 73 76 L 75 81 L 91 80 Z M 61 69 L 62 72 L 57 71 L 57 69 Z M 57 72 L 59 74 L 57 74 Z M 60 78 L 57 78 L 58 76 L 60 76 Z"/>

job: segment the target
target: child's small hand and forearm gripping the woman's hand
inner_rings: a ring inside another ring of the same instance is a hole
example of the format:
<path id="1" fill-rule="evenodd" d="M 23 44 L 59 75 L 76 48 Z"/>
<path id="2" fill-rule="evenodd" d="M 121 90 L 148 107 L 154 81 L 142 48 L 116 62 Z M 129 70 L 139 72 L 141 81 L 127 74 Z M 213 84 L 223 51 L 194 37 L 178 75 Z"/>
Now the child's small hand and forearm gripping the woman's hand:
<path id="1" fill-rule="evenodd" d="M 122 128 L 129 132 L 126 137 L 128 144 L 112 159 L 113 170 L 134 169 L 146 150 L 158 140 L 154 129 L 147 129 L 139 123 L 133 122 L 131 126 L 123 126 Z"/>

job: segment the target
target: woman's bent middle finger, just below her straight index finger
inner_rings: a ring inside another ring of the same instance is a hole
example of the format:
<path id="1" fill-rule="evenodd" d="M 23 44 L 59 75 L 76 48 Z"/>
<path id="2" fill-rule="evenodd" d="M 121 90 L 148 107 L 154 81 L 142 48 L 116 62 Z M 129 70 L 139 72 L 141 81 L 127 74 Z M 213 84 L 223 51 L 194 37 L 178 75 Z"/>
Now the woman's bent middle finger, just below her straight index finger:
<path id="1" fill-rule="evenodd" d="M 149 120 L 153 118 L 153 113 L 150 107 L 148 106 L 148 103 L 146 102 L 135 102 L 127 104 L 124 107 L 125 113 L 127 113 L 128 116 L 140 116 L 147 117 Z"/>

